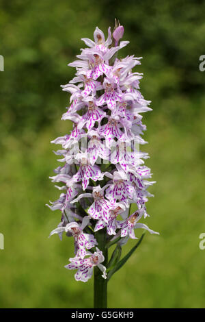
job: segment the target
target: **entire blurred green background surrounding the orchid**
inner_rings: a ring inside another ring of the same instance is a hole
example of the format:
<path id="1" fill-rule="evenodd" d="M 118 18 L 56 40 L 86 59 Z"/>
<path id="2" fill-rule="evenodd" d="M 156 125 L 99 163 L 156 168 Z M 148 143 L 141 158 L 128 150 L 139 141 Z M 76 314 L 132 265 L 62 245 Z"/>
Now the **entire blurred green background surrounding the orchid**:
<path id="1" fill-rule="evenodd" d="M 59 195 L 49 180 L 58 165 L 50 141 L 70 129 L 60 121 L 68 95 L 59 86 L 74 76 L 67 64 L 85 47 L 81 38 L 93 38 L 96 26 L 107 36 L 115 17 L 130 40 L 120 57 L 143 56 L 141 92 L 153 108 L 143 115 L 143 150 L 157 182 L 144 222 L 160 236 L 146 234 L 113 276 L 109 307 L 205 307 L 204 12 L 200 0 L 0 1 L 1 308 L 92 307 L 93 282 L 64 269 L 72 241 L 48 238 L 60 214 L 44 205 Z"/>

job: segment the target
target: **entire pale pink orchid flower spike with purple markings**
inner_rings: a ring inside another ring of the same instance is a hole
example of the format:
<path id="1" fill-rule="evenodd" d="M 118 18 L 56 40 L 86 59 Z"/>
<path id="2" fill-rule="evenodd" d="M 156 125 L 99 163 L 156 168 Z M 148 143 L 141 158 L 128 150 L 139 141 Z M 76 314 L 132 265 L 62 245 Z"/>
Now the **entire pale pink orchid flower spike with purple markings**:
<path id="1" fill-rule="evenodd" d="M 65 232 L 74 238 L 75 256 L 66 268 L 77 269 L 75 279 L 83 282 L 92 277 L 95 266 L 107 277 L 107 267 L 101 264 L 105 254 L 96 247 L 98 230 L 105 230 L 108 241 L 118 238 L 120 245 L 136 238 L 137 228 L 155 233 L 139 223 L 148 216 L 146 201 L 152 195 L 147 188 L 154 182 L 148 181 L 151 173 L 143 161 L 148 153 L 135 149 L 136 143 L 146 143 L 141 138 L 146 130 L 141 113 L 152 109 L 139 91 L 142 74 L 132 71 L 141 58 L 117 58 L 128 44 L 120 41 L 123 33 L 122 26 L 115 27 L 113 34 L 109 27 L 105 40 L 96 27 L 94 41 L 82 38 L 88 48 L 68 64 L 76 68 L 76 77 L 62 86 L 71 94 L 62 119 L 72 121 L 72 131 L 52 141 L 62 146 L 55 154 L 64 165 L 55 169 L 51 179 L 63 183 L 56 187 L 65 192 L 49 206 L 61 211 L 61 223 L 51 234 L 61 238 Z M 85 138 L 87 145 L 82 143 Z M 73 153 L 76 144 L 79 151 Z M 137 205 L 133 214 L 132 203 Z"/>

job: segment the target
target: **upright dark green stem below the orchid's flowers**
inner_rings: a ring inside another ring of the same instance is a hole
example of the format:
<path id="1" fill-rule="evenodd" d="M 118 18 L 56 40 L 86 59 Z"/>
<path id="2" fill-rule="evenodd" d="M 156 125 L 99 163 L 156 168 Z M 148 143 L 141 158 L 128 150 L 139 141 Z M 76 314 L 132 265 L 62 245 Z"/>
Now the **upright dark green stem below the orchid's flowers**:
<path id="1" fill-rule="evenodd" d="M 96 232 L 98 248 L 102 251 L 105 261 L 102 264 L 107 267 L 108 249 L 106 247 L 106 228 Z M 107 280 L 102 277 L 102 271 L 94 267 L 94 308 L 107 308 Z"/>

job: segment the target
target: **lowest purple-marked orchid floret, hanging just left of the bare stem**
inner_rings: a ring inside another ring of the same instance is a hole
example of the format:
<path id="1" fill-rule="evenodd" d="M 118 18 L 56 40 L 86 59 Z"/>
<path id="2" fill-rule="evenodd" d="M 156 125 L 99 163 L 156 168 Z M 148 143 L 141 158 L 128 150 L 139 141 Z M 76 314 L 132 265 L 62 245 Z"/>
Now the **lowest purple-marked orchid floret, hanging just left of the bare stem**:
<path id="1" fill-rule="evenodd" d="M 93 274 L 93 268 L 97 266 L 100 271 L 102 271 L 102 277 L 107 278 L 106 267 L 101 263 L 104 262 L 105 257 L 96 247 L 96 251 L 94 253 L 90 253 L 87 251 L 85 256 L 90 256 L 88 258 L 83 258 L 83 260 L 79 257 L 69 258 L 70 264 L 66 265 L 66 269 L 77 269 L 77 273 L 74 275 L 75 280 L 81 282 L 87 282 L 90 280 Z"/>

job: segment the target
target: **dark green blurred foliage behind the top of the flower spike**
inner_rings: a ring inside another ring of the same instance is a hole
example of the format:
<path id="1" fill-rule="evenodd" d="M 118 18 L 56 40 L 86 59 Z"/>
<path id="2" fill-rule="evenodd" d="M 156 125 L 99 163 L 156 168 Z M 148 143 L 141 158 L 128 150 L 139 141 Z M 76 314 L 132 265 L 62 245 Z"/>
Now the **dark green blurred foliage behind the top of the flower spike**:
<path id="1" fill-rule="evenodd" d="M 197 93 L 204 75 L 198 69 L 204 48 L 204 1 L 25 1 L 1 0 L 2 130 L 42 130 L 66 106 L 60 84 L 66 84 L 74 69 L 66 66 L 84 46 L 96 25 L 113 27 L 117 16 L 131 43 L 122 54 L 143 56 L 140 71 L 146 75 L 143 92 L 159 100 Z M 173 116 L 175 112 L 172 110 Z"/>

